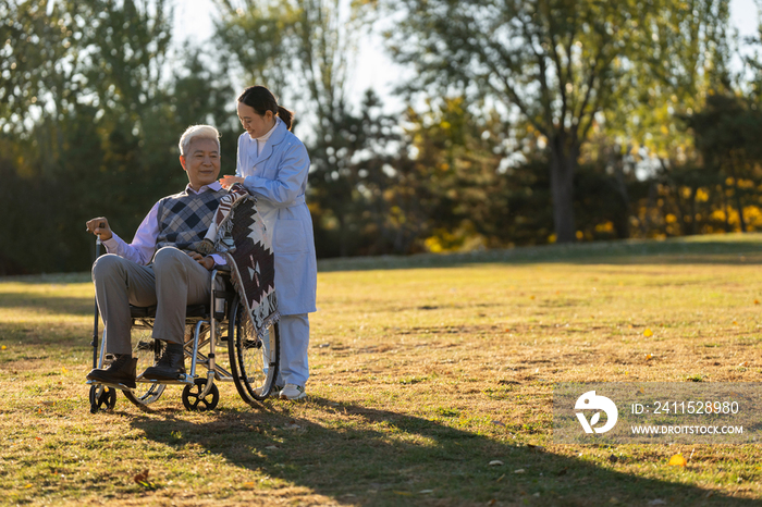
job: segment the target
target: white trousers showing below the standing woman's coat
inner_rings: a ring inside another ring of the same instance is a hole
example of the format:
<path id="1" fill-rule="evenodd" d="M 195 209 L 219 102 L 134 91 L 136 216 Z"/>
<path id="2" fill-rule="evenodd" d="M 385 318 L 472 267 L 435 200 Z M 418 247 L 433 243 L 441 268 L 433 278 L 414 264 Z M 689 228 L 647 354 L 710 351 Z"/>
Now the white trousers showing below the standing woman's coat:
<path id="1" fill-rule="evenodd" d="M 309 318 L 307 313 L 281 316 L 281 361 L 276 385 L 296 384 L 304 386 L 309 379 Z"/>

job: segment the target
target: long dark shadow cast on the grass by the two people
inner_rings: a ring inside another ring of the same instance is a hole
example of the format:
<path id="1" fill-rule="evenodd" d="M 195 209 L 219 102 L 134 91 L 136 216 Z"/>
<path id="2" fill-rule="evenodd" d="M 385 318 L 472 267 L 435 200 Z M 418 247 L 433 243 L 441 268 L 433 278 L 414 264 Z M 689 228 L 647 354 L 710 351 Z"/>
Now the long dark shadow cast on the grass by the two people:
<path id="1" fill-rule="evenodd" d="M 131 424 L 156 442 L 201 445 L 242 469 L 340 504 L 759 505 L 515 444 L 507 433 L 501 440 L 323 398 L 306 403 L 324 412 L 323 423 L 293 419 L 291 406 L 275 401 L 259 411 L 222 410 L 201 424 L 167 411 L 137 416 Z M 502 465 L 490 466 L 495 460 Z"/>

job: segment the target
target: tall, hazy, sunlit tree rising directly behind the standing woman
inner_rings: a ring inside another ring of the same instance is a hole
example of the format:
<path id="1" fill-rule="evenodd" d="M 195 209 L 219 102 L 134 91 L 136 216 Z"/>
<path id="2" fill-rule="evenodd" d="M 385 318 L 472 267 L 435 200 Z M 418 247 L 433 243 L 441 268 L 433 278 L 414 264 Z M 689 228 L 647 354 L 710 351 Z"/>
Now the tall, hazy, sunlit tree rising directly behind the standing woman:
<path id="1" fill-rule="evenodd" d="M 293 101 L 305 112 L 297 118 L 306 116 L 304 123 L 310 127 L 304 139 L 312 163 L 310 202 L 335 222 L 339 234 L 330 236 L 339 248 L 331 253 L 340 256 L 357 251 L 353 243 L 362 234 L 358 219 L 362 214 L 358 171 L 362 168 L 356 161 L 370 141 L 364 128 L 369 122 L 386 121 L 378 114 L 371 118 L 369 109 L 378 98 L 366 97 L 359 112 L 347 102 L 348 75 L 362 18 L 361 2 L 349 2 L 347 9 L 344 3 L 217 0 L 221 13 L 217 39 L 246 81 L 268 86 L 285 97 L 279 103 L 291 109 Z M 318 220 L 319 239 L 324 233 L 321 225 Z M 318 240 L 318 255 L 327 255 Z"/>

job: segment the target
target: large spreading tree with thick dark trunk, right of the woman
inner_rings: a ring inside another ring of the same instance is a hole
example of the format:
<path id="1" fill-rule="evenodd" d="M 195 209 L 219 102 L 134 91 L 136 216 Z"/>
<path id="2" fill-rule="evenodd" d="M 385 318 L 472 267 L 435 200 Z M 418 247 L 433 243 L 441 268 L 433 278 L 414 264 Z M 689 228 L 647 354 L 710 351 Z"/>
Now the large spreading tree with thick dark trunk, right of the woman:
<path id="1" fill-rule="evenodd" d="M 660 0 L 385 4 L 402 12 L 392 14 L 388 37 L 397 61 L 418 71 L 413 90 L 458 88 L 490 97 L 546 138 L 557 239 L 574 240 L 580 149 L 603 120 L 600 113 L 620 104 L 632 76 L 653 57 L 654 34 L 676 23 L 669 13 L 685 9 Z"/>

